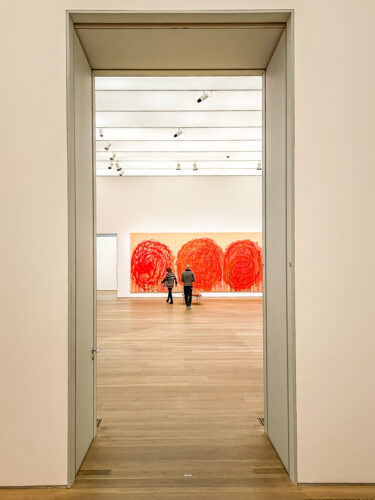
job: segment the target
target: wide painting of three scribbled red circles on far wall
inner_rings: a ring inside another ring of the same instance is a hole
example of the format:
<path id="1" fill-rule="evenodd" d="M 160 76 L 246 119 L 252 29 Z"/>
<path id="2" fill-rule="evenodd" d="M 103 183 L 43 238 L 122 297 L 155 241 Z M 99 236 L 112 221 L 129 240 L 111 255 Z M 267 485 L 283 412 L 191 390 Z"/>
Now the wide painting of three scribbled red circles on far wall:
<path id="1" fill-rule="evenodd" d="M 165 291 L 167 267 L 179 281 L 189 264 L 203 292 L 263 291 L 262 233 L 131 233 L 130 291 Z"/>

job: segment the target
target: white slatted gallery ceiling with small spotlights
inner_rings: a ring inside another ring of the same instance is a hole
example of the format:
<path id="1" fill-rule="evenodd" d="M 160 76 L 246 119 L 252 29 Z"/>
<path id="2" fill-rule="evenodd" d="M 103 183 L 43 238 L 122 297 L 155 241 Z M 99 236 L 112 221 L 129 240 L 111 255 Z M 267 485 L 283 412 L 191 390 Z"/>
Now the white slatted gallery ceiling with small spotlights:
<path id="1" fill-rule="evenodd" d="M 262 77 L 96 77 L 95 96 L 97 175 L 261 174 Z"/>

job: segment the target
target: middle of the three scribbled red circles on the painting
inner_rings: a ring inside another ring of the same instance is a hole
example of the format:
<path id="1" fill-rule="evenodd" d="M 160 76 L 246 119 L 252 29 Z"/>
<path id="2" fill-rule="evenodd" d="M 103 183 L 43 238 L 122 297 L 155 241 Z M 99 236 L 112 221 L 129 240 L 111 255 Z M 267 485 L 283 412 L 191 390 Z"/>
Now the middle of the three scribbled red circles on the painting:
<path id="1" fill-rule="evenodd" d="M 223 260 L 224 252 L 214 240 L 190 240 L 182 245 L 177 254 L 178 279 L 189 264 L 195 274 L 194 287 L 208 292 L 222 280 Z"/>

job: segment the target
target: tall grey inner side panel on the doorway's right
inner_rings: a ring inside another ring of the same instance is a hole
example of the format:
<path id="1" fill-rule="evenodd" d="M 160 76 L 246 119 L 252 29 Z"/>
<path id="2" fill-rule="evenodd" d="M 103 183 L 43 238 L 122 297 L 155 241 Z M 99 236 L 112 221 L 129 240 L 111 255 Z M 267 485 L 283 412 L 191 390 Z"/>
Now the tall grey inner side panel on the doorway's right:
<path id="1" fill-rule="evenodd" d="M 265 76 L 264 172 L 264 353 L 265 431 L 292 479 L 295 479 L 293 371 L 291 348 L 291 155 L 290 76 L 284 31 Z"/>

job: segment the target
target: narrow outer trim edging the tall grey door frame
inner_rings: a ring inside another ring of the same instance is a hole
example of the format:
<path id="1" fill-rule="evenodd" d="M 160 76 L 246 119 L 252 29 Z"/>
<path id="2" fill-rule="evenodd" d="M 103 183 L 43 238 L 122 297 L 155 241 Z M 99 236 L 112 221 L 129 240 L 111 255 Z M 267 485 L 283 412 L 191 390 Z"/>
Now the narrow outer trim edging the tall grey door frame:
<path id="1" fill-rule="evenodd" d="M 71 486 L 75 480 L 75 270 L 74 270 L 74 227 L 75 227 L 75 191 L 74 191 L 74 85 L 73 85 L 73 64 L 72 64 L 72 39 L 74 31 L 74 23 L 72 15 L 93 15 L 97 14 L 98 19 L 95 23 L 100 22 L 100 16 L 105 14 L 155 14 L 155 11 L 67 11 L 67 132 L 68 132 L 68 223 L 69 223 L 69 333 L 68 333 L 68 485 Z M 287 310 L 288 310 L 288 407 L 289 407 L 289 475 L 291 480 L 296 483 L 297 478 L 297 456 L 296 456 L 296 371 L 295 371 L 295 314 L 294 314 L 294 11 L 292 9 L 248 9 L 248 10 L 194 10 L 194 11 L 163 11 L 165 14 L 193 14 L 193 13 L 211 13 L 211 14 L 289 14 L 289 20 L 286 24 L 286 38 L 287 38 L 287 261 L 288 261 L 288 275 L 287 275 Z M 94 22 L 94 21 L 90 21 Z M 214 23 L 213 23 L 214 24 Z M 109 75 L 121 74 L 121 71 L 108 72 L 108 71 L 95 71 L 94 74 Z M 150 74 L 150 72 L 148 72 Z M 243 71 L 241 74 L 264 74 L 264 72 Z M 238 72 L 226 72 L 226 74 L 239 74 Z M 93 132 L 94 133 L 94 132 Z M 263 130 L 264 133 L 264 130 Z M 93 141 L 95 144 L 95 141 Z M 265 148 L 263 148 L 265 151 Z M 94 165 L 95 165 L 95 147 L 94 147 Z M 264 163 L 266 158 L 263 157 Z M 263 197 L 264 198 L 264 197 Z M 263 200 L 264 203 L 264 200 Z M 264 217 L 263 217 L 264 220 Z M 95 221 L 94 221 L 95 222 Z M 93 238 L 96 239 L 96 231 L 94 231 Z M 95 276 L 95 269 L 94 269 Z M 265 262 L 265 273 L 267 272 L 267 262 Z M 94 280 L 96 282 L 96 279 Z M 95 283 L 96 288 L 96 283 Z M 96 290 L 94 290 L 96 294 Z M 95 295 L 93 294 L 93 297 Z M 96 301 L 95 301 L 96 302 Z M 96 306 L 94 308 L 96 315 Z M 266 298 L 264 304 L 264 366 L 266 367 L 267 359 L 267 344 L 266 344 Z M 265 372 L 266 375 L 266 372 Z M 96 376 L 96 374 L 95 374 Z M 265 390 L 265 421 L 267 416 L 267 377 L 264 379 Z M 267 428 L 265 428 L 267 432 Z"/>

